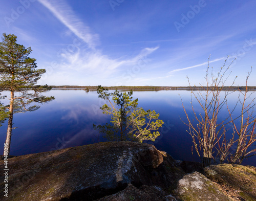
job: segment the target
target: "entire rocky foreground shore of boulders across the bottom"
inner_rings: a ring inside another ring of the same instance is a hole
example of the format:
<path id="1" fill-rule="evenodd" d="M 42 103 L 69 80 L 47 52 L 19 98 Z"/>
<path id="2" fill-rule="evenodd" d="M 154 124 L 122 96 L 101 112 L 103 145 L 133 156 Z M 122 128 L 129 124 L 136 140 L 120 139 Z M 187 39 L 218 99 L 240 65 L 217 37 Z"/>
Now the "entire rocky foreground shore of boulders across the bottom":
<path id="1" fill-rule="evenodd" d="M 0 160 L 0 169 L 4 170 Z M 201 164 L 183 163 L 191 172 Z M 153 145 L 104 142 L 8 159 L 11 201 L 256 200 L 256 169 L 214 165 L 186 174 Z M 0 188 L 5 186 L 0 176 Z"/>

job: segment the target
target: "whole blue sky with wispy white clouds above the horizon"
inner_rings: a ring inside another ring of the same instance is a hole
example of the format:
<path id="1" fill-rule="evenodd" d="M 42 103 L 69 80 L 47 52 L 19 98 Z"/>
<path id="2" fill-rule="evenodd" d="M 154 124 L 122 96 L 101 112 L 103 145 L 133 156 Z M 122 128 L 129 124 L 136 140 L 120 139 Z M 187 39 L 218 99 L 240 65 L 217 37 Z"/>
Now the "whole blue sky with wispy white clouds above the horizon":
<path id="1" fill-rule="evenodd" d="M 31 47 L 39 84 L 205 84 L 227 55 L 230 84 L 256 85 L 256 2 L 22 0 L 0 2 L 0 33 Z"/>

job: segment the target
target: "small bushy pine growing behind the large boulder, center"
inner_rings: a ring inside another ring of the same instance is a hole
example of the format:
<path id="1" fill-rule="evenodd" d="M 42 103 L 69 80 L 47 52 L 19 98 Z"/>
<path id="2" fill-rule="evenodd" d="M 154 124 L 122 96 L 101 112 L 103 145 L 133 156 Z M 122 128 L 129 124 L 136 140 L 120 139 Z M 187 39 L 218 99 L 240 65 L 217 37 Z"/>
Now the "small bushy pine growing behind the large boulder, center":
<path id="1" fill-rule="evenodd" d="M 109 102 L 100 109 L 103 114 L 112 115 L 110 123 L 105 125 L 93 125 L 95 130 L 103 133 L 104 137 L 111 141 L 155 141 L 160 136 L 159 127 L 163 121 L 159 120 L 159 114 L 153 110 L 145 111 L 138 107 L 138 99 L 133 100 L 133 92 L 120 93 L 117 90 L 109 93 L 107 88 L 98 86 L 99 98 Z M 111 101 L 112 99 L 112 101 Z"/>

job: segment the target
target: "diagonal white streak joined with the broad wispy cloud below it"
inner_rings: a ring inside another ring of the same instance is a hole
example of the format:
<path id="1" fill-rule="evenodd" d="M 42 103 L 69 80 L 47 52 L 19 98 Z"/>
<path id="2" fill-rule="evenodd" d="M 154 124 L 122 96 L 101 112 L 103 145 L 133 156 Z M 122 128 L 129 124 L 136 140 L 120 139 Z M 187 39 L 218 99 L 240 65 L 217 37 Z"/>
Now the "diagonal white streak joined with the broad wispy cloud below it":
<path id="1" fill-rule="evenodd" d="M 96 44 L 99 44 L 99 35 L 93 34 L 90 27 L 84 25 L 65 0 L 38 1 L 49 9 L 71 32 L 86 42 L 89 47 L 76 47 L 76 52 L 60 54 L 59 66 L 61 66 L 61 69 L 58 69 L 57 73 L 62 78 L 70 79 L 71 76 L 74 76 L 78 79 L 79 76 L 82 76 L 87 77 L 87 82 L 90 83 L 95 82 L 95 77 L 97 80 L 111 79 L 111 75 L 117 71 L 136 65 L 141 58 L 145 58 L 159 48 L 144 48 L 134 57 L 123 56 L 113 59 L 103 54 L 99 48 L 96 48 Z M 56 80 L 56 74 L 49 75 L 48 79 Z"/>

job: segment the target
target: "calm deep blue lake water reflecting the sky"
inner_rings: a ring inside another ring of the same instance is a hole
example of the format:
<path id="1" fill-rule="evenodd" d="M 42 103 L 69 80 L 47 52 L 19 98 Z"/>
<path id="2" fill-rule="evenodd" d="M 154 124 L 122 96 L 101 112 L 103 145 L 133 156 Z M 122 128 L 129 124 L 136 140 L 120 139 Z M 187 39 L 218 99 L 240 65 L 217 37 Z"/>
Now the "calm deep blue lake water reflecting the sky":
<path id="1" fill-rule="evenodd" d="M 2 92 L 2 95 L 7 95 Z M 104 104 L 98 98 L 96 91 L 83 90 L 52 90 L 46 94 L 55 96 L 55 100 L 41 105 L 40 109 L 25 114 L 14 115 L 14 125 L 11 141 L 11 155 L 23 155 L 68 148 L 79 145 L 92 144 L 102 141 L 93 124 L 105 124 L 110 121 L 109 115 L 102 114 L 99 109 Z M 191 113 L 190 91 L 135 91 L 134 98 L 138 98 L 138 106 L 144 110 L 155 110 L 164 121 L 159 130 L 161 136 L 155 141 L 147 141 L 157 149 L 166 151 L 176 160 L 200 161 L 194 149 L 191 154 L 191 136 L 186 132 L 187 126 L 181 104 Z M 255 96 L 253 94 L 253 96 Z M 229 96 L 228 103 L 234 105 L 238 93 Z M 7 103 L 4 100 L 2 102 Z M 196 105 L 195 105 L 196 106 Z M 199 110 L 199 107 L 195 107 Z M 238 113 L 239 111 L 237 111 Z M 225 118 L 227 114 L 219 115 Z M 6 139 L 7 122 L 0 127 L 1 152 Z M 244 160 L 243 164 L 256 166 L 256 157 Z"/>

